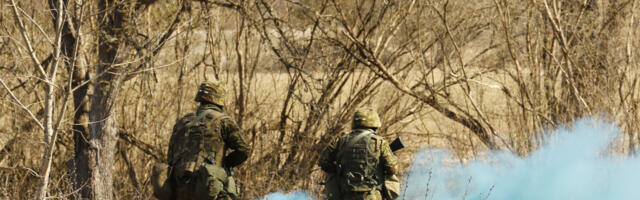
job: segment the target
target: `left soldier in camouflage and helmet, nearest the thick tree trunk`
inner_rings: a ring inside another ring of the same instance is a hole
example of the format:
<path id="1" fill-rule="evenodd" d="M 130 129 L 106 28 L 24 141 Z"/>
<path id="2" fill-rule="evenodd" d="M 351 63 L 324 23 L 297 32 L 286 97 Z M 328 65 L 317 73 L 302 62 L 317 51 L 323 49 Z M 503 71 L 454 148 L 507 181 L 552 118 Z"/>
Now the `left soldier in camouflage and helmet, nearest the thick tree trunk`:
<path id="1" fill-rule="evenodd" d="M 202 83 L 195 98 L 200 106 L 173 127 L 167 154 L 170 199 L 237 198 L 231 168 L 247 160 L 250 149 L 238 125 L 222 112 L 226 93 L 220 82 Z"/>

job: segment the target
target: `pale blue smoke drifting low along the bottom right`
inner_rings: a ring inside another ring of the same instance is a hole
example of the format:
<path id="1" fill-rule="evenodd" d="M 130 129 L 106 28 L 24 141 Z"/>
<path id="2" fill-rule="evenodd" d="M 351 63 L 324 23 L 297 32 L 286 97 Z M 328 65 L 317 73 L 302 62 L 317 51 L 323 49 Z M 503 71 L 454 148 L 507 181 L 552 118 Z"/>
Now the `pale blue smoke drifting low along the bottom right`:
<path id="1" fill-rule="evenodd" d="M 545 144 L 527 157 L 489 152 L 465 164 L 447 151 L 423 149 L 398 199 L 640 199 L 640 158 L 610 153 L 619 134 L 611 124 L 584 119 L 545 134 Z M 312 198 L 295 192 L 263 199 Z"/>

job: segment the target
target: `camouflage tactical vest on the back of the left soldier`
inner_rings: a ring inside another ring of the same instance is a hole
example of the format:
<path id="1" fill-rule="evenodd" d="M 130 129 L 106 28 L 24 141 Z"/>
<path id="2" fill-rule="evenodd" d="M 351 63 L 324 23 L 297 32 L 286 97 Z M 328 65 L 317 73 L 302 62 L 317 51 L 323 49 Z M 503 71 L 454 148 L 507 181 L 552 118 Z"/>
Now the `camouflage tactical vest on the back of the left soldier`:
<path id="1" fill-rule="evenodd" d="M 180 120 L 173 133 L 177 135 L 173 155 L 170 155 L 176 177 L 193 174 L 205 161 L 222 166 L 222 119 L 225 118 L 229 116 L 207 109 Z"/>

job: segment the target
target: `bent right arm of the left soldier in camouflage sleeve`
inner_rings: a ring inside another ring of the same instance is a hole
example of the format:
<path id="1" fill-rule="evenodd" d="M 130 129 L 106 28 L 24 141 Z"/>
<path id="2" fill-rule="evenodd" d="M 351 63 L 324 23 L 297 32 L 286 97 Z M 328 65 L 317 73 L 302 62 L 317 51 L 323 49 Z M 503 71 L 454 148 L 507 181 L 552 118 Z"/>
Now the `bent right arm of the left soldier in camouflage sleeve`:
<path id="1" fill-rule="evenodd" d="M 222 121 L 222 138 L 225 145 L 233 149 L 233 152 L 224 158 L 226 167 L 238 166 L 249 158 L 251 149 L 242 138 L 240 128 L 231 119 L 223 119 Z"/>

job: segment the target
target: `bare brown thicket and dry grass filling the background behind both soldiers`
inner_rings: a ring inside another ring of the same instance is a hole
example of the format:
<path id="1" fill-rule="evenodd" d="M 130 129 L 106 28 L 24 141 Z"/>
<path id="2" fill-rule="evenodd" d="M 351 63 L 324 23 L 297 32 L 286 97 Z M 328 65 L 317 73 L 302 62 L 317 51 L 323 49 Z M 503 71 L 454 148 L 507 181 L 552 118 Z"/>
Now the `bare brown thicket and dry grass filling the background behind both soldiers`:
<path id="1" fill-rule="evenodd" d="M 320 151 L 363 106 L 408 142 L 403 169 L 420 148 L 525 156 L 587 116 L 634 154 L 637 4 L 0 0 L 0 194 L 150 198 L 173 123 L 213 78 L 253 149 L 243 199 L 319 191 Z"/>

